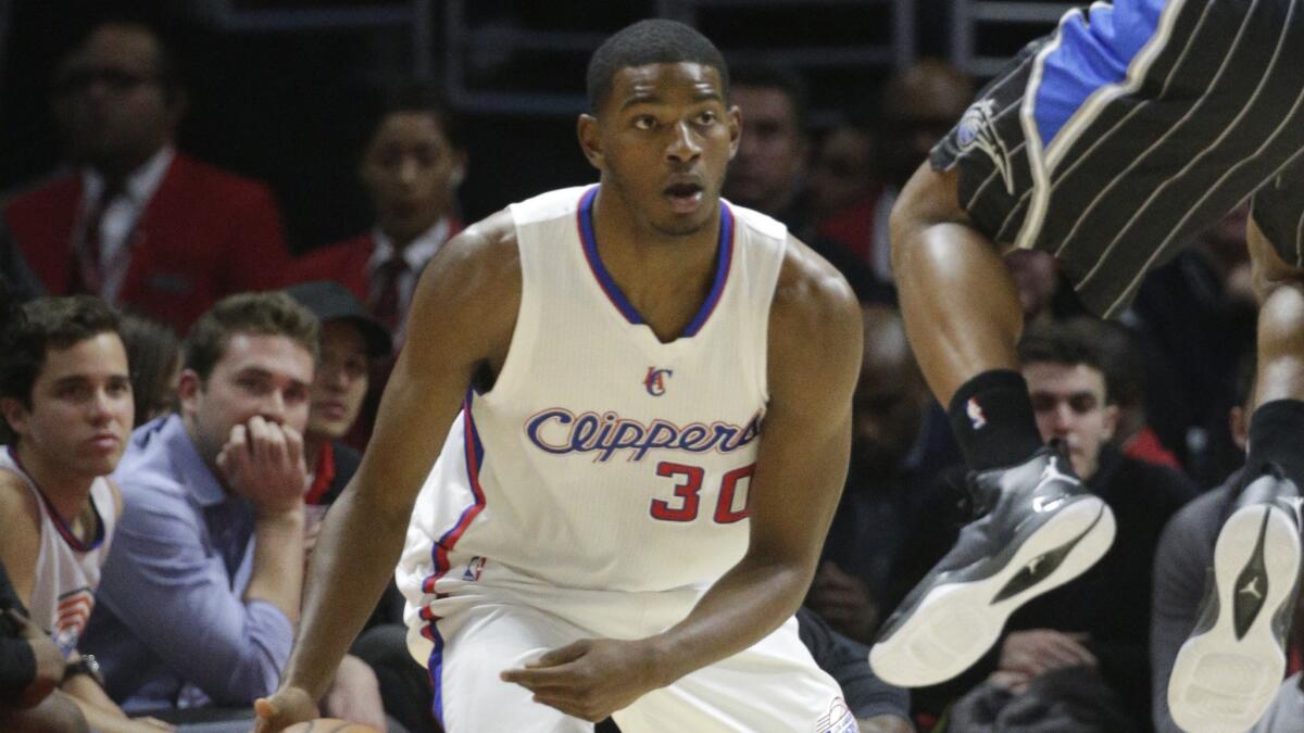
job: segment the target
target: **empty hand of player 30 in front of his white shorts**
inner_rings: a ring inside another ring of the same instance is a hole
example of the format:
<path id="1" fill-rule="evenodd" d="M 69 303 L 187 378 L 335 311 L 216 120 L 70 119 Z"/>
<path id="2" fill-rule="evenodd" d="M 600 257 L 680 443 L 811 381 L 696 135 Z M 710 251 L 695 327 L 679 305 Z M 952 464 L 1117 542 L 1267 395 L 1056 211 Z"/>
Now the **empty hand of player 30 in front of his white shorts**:
<path id="1" fill-rule="evenodd" d="M 597 723 L 660 687 L 657 666 L 645 640 L 580 639 L 499 678 L 533 693 L 536 703 Z"/>

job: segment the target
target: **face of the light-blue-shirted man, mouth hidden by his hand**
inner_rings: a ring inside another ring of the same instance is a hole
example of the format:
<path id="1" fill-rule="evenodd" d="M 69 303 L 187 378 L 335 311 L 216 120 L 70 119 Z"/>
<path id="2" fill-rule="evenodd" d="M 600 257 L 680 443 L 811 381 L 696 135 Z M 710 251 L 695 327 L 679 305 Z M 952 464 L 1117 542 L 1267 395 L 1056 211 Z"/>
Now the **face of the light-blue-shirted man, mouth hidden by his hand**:
<path id="1" fill-rule="evenodd" d="M 308 424 L 313 355 L 297 342 L 267 334 L 235 334 L 206 382 L 186 369 L 179 393 L 181 415 L 206 460 L 231 437 L 231 428 L 262 416 L 300 433 Z"/>

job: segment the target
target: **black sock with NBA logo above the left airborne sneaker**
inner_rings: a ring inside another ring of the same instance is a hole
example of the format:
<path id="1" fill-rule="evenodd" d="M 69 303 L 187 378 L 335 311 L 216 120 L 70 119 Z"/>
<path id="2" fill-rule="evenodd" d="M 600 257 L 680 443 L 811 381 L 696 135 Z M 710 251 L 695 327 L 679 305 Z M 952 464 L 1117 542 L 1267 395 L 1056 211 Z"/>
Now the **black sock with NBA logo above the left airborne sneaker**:
<path id="1" fill-rule="evenodd" d="M 951 429 L 975 471 L 1013 466 L 1042 447 L 1028 382 L 1013 369 L 994 369 L 956 390 L 947 410 Z"/>

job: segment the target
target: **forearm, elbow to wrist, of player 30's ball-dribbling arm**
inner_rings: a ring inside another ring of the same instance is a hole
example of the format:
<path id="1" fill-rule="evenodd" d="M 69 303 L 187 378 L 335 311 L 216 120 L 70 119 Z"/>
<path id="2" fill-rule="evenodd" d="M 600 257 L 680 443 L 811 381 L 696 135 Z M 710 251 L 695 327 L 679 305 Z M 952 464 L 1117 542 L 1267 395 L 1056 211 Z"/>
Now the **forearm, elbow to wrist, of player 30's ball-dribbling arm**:
<path id="1" fill-rule="evenodd" d="M 351 485 L 331 505 L 313 550 L 299 640 L 284 685 L 319 699 L 394 575 L 411 506 L 386 511 Z"/>

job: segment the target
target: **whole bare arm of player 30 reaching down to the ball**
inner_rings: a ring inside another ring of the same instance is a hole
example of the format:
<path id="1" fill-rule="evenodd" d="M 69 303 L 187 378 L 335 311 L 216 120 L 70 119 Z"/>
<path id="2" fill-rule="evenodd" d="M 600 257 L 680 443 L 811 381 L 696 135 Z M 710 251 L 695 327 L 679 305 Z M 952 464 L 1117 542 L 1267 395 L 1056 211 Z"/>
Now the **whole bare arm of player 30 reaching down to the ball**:
<path id="1" fill-rule="evenodd" d="M 426 267 L 368 450 L 317 540 L 280 691 L 256 706 L 258 730 L 314 715 L 313 702 L 394 574 L 417 492 L 476 370 L 502 363 L 519 303 L 520 263 L 507 213 L 450 240 Z"/>

